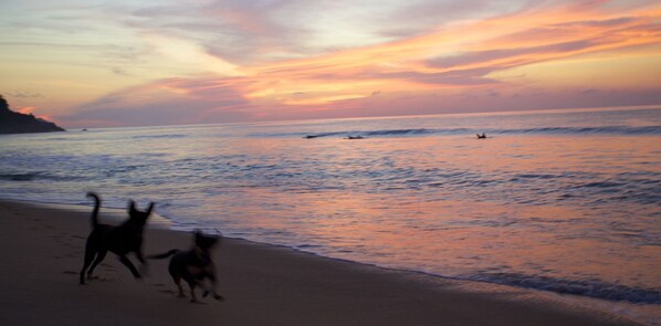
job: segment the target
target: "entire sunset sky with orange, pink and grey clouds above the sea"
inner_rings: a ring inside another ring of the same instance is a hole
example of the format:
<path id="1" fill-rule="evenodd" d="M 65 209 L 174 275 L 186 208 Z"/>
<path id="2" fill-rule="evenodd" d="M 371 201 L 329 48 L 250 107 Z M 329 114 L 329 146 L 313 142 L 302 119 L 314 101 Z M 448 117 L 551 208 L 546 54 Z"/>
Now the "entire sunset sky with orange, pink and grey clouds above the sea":
<path id="1" fill-rule="evenodd" d="M 661 104 L 661 2 L 4 0 L 0 94 L 64 127 Z"/>

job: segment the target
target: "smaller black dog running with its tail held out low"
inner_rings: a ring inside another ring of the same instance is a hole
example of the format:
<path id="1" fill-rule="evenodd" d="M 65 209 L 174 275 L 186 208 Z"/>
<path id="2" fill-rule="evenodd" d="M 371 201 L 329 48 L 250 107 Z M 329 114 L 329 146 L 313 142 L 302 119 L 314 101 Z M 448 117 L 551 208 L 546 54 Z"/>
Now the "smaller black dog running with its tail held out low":
<path id="1" fill-rule="evenodd" d="M 196 285 L 201 286 L 204 292 L 202 296 L 206 297 L 209 292 L 213 294 L 216 299 L 223 299 L 218 293 L 216 293 L 216 266 L 211 261 L 211 248 L 222 240 L 216 235 L 204 235 L 200 231 L 193 233 L 193 248 L 189 251 L 180 252 L 177 249 L 170 250 L 167 253 L 149 256 L 149 259 L 166 259 L 172 256 L 168 271 L 179 288 L 179 296 L 186 296 L 183 288 L 181 288 L 181 278 L 190 286 L 190 302 L 198 302 L 195 295 Z M 211 290 L 203 283 L 204 278 L 211 281 Z"/>

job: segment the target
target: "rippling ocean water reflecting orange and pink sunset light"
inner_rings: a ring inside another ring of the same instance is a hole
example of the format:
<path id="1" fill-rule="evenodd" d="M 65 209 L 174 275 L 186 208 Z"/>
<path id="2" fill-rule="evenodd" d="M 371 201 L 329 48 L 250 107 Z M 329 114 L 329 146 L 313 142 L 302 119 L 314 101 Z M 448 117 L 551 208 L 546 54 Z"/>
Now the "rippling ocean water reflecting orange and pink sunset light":
<path id="1" fill-rule="evenodd" d="M 177 230 L 661 324 L 661 109 L 0 136 L 0 198 L 91 208 L 87 191 L 104 207 L 155 201 Z"/>

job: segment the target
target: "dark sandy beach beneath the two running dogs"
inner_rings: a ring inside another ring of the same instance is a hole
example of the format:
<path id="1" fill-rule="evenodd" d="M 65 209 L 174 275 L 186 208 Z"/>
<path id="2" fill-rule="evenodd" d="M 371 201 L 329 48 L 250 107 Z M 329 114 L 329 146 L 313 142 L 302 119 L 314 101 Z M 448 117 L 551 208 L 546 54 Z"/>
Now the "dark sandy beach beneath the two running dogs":
<path id="1" fill-rule="evenodd" d="M 90 211 L 0 201 L 0 325 L 637 325 L 532 291 L 466 291 L 461 281 L 235 239 L 214 252 L 223 302 L 178 298 L 167 260 L 134 280 L 112 253 L 98 280 L 78 285 Z M 150 228 L 145 252 L 187 249 L 190 239 Z"/>

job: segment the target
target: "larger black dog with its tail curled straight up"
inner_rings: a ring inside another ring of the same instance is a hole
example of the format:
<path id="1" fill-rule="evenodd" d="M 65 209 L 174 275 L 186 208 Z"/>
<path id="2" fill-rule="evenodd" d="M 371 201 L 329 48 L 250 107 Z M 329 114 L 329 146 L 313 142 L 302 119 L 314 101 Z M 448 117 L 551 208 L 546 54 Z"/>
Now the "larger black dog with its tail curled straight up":
<path id="1" fill-rule="evenodd" d="M 94 198 L 94 211 L 92 211 L 92 233 L 87 238 L 85 245 L 85 263 L 81 271 L 81 284 L 85 284 L 85 270 L 92 264 L 87 272 L 87 277 L 92 277 L 94 267 L 98 265 L 106 256 L 108 251 L 116 253 L 119 261 L 130 270 L 136 278 L 140 278 L 140 273 L 130 263 L 126 254 L 134 252 L 140 263 L 145 264 L 143 257 L 143 230 L 147 218 L 154 209 L 154 202 L 149 203 L 147 211 L 139 211 L 133 200 L 128 204 L 128 220 L 118 227 L 98 223 L 98 209 L 101 208 L 101 198 L 94 192 L 88 192 L 87 197 Z M 94 261 L 94 263 L 92 263 Z"/>

